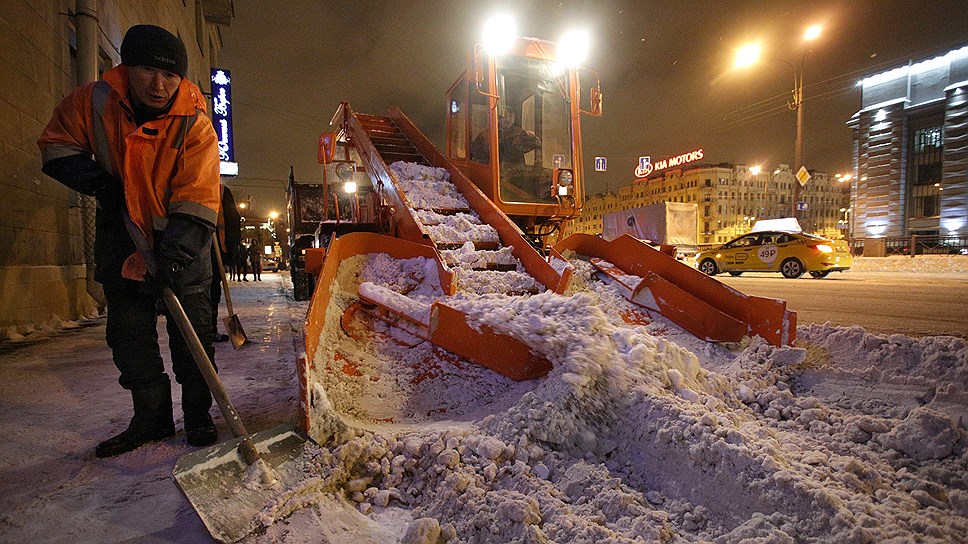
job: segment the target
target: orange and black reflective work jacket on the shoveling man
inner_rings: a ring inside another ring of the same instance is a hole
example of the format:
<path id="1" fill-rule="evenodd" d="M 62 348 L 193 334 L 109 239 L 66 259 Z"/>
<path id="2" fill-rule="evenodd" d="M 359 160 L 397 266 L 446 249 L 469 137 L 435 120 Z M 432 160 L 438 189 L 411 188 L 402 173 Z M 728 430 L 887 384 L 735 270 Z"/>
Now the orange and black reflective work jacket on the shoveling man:
<path id="1" fill-rule="evenodd" d="M 194 292 L 211 277 L 221 196 L 204 96 L 183 78 L 170 108 L 140 125 L 129 96 L 121 65 L 65 97 L 38 141 L 43 170 L 98 199 L 97 281 L 121 282 L 122 270 L 142 279 L 145 261 L 150 271 L 164 260 L 181 266 Z"/>

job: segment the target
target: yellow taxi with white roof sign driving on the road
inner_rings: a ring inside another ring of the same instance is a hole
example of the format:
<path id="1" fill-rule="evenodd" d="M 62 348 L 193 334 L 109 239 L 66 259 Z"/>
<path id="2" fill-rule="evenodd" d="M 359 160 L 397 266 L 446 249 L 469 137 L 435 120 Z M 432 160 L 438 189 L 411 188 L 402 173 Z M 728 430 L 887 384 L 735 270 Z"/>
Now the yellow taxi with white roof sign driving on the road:
<path id="1" fill-rule="evenodd" d="M 696 254 L 700 272 L 714 276 L 729 272 L 780 272 L 799 278 L 809 272 L 815 278 L 850 269 L 853 257 L 844 240 L 831 240 L 803 232 L 752 232 L 722 246 Z"/>

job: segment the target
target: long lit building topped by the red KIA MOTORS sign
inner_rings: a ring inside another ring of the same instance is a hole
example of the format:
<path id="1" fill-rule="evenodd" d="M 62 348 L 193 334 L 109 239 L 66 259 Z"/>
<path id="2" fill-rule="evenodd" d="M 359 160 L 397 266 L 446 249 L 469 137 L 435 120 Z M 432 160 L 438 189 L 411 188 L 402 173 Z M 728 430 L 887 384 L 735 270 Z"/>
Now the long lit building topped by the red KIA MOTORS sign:
<path id="1" fill-rule="evenodd" d="M 800 225 L 806 232 L 844 237 L 843 221 L 849 205 L 848 184 L 823 172 L 810 172 L 802 200 Z M 757 219 L 789 217 L 793 184 L 798 183 L 789 165 L 754 174 L 741 164 L 696 165 L 653 174 L 636 180 L 618 192 L 589 195 L 582 215 L 565 226 L 564 234 L 602 232 L 602 215 L 659 202 L 690 202 L 698 206 L 698 242 L 728 242 L 750 231 Z"/>

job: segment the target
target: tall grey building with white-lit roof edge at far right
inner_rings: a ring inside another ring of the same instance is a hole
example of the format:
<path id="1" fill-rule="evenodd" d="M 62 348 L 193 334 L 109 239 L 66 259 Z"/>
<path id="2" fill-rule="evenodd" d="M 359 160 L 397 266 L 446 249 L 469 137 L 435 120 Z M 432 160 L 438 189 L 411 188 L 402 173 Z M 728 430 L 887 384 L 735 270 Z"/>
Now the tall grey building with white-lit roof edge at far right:
<path id="1" fill-rule="evenodd" d="M 854 235 L 968 235 L 968 46 L 860 86 Z"/>

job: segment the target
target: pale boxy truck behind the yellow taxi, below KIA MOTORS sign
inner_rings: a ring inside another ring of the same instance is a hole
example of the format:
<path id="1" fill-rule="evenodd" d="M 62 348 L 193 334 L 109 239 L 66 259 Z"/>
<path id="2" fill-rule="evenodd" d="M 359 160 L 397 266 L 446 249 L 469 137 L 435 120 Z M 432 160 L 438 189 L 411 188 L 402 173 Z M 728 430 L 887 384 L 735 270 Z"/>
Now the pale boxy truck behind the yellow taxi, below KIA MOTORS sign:
<path id="1" fill-rule="evenodd" d="M 628 234 L 651 245 L 675 247 L 677 259 L 696 254 L 699 207 L 688 202 L 659 202 L 602 216 L 602 237 Z"/>

